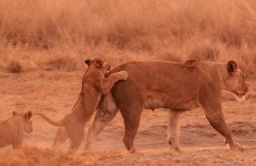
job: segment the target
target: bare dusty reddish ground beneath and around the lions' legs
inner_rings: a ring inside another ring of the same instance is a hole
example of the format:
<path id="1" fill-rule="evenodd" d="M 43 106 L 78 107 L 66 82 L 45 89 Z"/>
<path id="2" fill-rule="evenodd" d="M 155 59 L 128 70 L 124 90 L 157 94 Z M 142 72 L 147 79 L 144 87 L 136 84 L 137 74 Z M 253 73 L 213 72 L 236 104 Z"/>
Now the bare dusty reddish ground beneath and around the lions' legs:
<path id="1" fill-rule="evenodd" d="M 75 104 L 83 71 L 35 73 L 0 73 L 0 120 L 12 111 L 42 112 L 60 120 Z M 34 131 L 24 138 L 24 149 L 12 152 L 0 149 L 2 165 L 256 165 L 256 77 L 247 80 L 250 92 L 238 102 L 223 92 L 223 113 L 234 139 L 244 151 L 228 151 L 219 133 L 205 120 L 201 109 L 185 113 L 181 125 L 181 147 L 176 154 L 167 145 L 167 111 L 143 111 L 135 139 L 136 154 L 128 154 L 122 143 L 124 124 L 120 113 L 100 133 L 94 153 L 66 151 L 69 142 L 59 150 L 51 149 L 57 127 L 33 119 Z M 89 122 L 89 125 L 91 122 Z M 88 126 L 89 126 L 88 125 Z M 86 127 L 86 130 L 88 129 Z"/>

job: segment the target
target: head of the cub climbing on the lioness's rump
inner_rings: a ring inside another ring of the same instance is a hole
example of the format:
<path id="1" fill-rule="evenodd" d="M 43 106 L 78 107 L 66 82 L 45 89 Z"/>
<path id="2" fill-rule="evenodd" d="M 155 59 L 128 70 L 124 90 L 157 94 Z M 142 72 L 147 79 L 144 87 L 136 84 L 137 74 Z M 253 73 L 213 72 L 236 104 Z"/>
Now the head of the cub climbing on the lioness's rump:
<path id="1" fill-rule="evenodd" d="M 107 73 L 107 71 L 111 69 L 110 64 L 103 58 L 95 58 L 93 60 L 87 59 L 84 63 L 87 64 L 89 68 L 92 67 L 100 69 L 103 73 Z"/>

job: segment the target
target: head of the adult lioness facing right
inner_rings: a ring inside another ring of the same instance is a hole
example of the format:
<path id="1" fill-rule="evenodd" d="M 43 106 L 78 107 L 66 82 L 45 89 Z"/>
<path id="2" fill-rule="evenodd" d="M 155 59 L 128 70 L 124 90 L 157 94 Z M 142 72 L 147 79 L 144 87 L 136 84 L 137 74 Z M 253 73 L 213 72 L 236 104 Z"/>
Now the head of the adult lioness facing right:
<path id="1" fill-rule="evenodd" d="M 228 78 L 224 82 L 225 89 L 233 93 L 237 98 L 244 99 L 248 92 L 248 86 L 245 82 L 246 76 L 237 67 L 235 61 L 229 61 L 227 64 Z"/>

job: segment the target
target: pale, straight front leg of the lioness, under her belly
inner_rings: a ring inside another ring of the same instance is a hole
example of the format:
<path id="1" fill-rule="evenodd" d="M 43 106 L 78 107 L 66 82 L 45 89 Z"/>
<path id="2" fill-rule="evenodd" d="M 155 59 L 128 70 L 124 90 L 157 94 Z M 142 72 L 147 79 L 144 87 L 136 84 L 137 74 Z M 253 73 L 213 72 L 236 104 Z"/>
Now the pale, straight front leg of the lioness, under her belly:
<path id="1" fill-rule="evenodd" d="M 181 111 L 169 111 L 169 122 L 168 122 L 168 143 L 175 151 L 181 151 L 179 145 L 180 136 L 180 124 L 179 121 L 183 112 Z"/>

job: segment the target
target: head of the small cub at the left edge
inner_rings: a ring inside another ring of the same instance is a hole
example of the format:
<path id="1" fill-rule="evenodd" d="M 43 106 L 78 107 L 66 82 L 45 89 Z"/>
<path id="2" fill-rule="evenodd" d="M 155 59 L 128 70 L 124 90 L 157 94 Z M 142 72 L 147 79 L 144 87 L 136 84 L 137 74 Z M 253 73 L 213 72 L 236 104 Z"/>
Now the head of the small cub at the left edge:
<path id="1" fill-rule="evenodd" d="M 26 113 L 17 113 L 12 111 L 12 117 L 19 117 L 22 120 L 24 133 L 31 133 L 33 131 L 33 124 L 31 118 L 33 117 L 33 113 L 28 111 Z"/>

